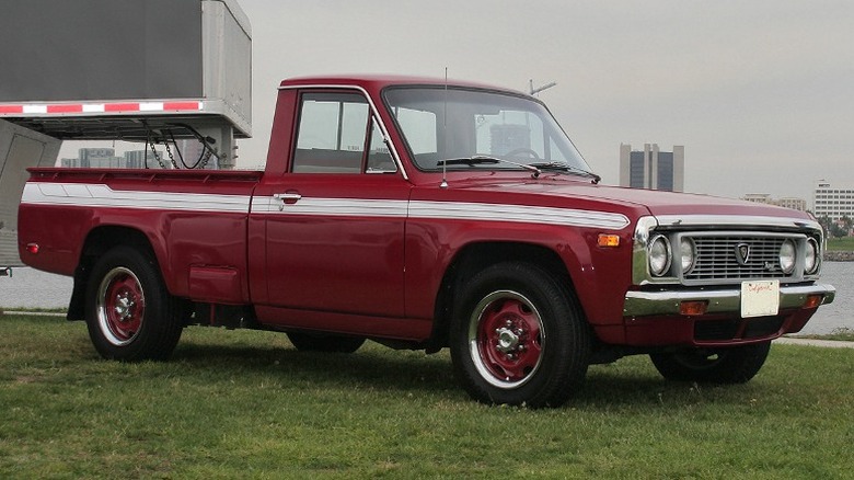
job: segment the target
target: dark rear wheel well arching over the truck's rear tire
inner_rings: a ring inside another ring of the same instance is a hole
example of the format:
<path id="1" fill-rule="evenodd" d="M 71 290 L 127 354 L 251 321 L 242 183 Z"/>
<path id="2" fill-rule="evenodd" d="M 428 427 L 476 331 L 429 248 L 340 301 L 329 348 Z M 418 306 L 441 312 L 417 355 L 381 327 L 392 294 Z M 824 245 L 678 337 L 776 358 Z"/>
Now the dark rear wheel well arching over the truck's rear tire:
<path id="1" fill-rule="evenodd" d="M 90 231 L 80 253 L 80 262 L 74 270 L 74 288 L 68 306 L 69 320 L 83 320 L 85 318 L 85 293 L 92 267 L 101 255 L 118 245 L 132 247 L 152 259 L 157 259 L 151 242 L 139 230 L 105 226 Z"/>

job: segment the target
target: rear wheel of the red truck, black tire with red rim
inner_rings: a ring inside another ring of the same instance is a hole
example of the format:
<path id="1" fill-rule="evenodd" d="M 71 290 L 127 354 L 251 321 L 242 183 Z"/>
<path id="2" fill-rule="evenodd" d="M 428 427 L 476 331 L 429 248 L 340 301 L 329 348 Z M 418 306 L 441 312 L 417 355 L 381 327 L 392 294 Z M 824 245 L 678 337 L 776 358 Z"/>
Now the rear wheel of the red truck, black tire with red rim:
<path id="1" fill-rule="evenodd" d="M 95 263 L 85 317 L 92 344 L 104 358 L 169 358 L 183 330 L 178 312 L 150 255 L 117 247 Z"/>

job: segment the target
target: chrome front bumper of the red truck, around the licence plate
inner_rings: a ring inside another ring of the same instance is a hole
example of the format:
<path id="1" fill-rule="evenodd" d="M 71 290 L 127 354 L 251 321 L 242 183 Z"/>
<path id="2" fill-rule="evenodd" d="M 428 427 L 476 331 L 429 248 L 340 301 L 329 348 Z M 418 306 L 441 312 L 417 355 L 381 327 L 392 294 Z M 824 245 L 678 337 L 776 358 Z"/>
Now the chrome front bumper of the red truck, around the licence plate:
<path id="1" fill-rule="evenodd" d="M 780 309 L 800 308 L 810 295 L 823 295 L 821 305 L 833 301 L 836 289 L 832 285 L 796 285 L 780 287 Z M 623 307 L 624 317 L 680 315 L 683 301 L 708 301 L 706 315 L 741 312 L 741 289 L 704 289 L 628 292 Z"/>

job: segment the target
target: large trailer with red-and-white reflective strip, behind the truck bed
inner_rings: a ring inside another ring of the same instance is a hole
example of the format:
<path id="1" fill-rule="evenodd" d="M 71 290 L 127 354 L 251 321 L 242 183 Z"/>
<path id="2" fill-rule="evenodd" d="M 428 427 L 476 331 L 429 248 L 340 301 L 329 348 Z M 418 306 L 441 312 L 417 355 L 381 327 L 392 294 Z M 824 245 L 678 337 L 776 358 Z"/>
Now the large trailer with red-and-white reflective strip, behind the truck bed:
<path id="1" fill-rule="evenodd" d="M 5 0 L 0 45 L 0 275 L 21 265 L 26 169 L 53 167 L 62 140 L 198 139 L 229 169 L 234 139 L 252 136 L 236 0 Z"/>

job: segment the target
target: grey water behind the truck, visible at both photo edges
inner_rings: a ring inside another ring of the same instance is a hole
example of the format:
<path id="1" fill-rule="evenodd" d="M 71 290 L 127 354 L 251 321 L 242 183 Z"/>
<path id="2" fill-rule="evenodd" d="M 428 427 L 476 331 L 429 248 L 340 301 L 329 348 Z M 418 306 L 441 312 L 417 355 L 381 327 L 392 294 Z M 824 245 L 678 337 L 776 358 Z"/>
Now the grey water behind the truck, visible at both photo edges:
<path id="1" fill-rule="evenodd" d="M 819 311 L 800 333 L 824 334 L 854 329 L 854 262 L 826 262 L 821 283 L 836 287 L 836 299 Z M 33 268 L 14 268 L 14 276 L 0 277 L 0 308 L 65 308 L 71 298 L 71 277 Z"/>

